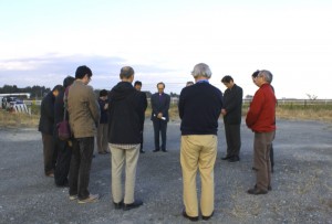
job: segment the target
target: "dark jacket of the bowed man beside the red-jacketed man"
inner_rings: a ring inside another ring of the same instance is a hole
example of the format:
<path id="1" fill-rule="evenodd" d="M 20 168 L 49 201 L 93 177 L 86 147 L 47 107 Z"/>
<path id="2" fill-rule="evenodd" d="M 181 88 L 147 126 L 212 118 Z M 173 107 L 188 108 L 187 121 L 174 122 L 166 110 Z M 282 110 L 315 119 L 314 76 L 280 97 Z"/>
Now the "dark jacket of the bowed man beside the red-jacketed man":
<path id="1" fill-rule="evenodd" d="M 242 117 L 242 88 L 234 84 L 232 88 L 227 88 L 224 93 L 224 106 L 227 114 L 224 122 L 227 125 L 240 125 Z"/>

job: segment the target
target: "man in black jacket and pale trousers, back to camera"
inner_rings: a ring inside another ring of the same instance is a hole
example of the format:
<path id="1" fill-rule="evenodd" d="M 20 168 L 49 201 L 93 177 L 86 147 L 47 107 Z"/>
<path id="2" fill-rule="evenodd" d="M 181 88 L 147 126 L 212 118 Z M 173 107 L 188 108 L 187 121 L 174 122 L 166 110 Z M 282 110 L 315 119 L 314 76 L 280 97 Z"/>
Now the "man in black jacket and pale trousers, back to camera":
<path id="1" fill-rule="evenodd" d="M 136 168 L 141 148 L 144 116 L 142 95 L 132 83 L 134 70 L 121 68 L 120 82 L 110 93 L 108 142 L 112 153 L 112 195 L 115 209 L 132 210 L 143 204 L 134 198 Z M 125 190 L 122 190 L 122 172 L 125 164 Z"/>

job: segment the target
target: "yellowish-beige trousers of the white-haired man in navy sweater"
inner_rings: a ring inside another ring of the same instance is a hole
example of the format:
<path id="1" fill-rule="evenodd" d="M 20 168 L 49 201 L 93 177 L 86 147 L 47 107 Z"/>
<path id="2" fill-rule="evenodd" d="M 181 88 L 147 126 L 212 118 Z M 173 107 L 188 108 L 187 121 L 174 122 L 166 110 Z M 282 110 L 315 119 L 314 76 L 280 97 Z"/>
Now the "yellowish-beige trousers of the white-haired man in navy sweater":
<path id="1" fill-rule="evenodd" d="M 200 211 L 209 216 L 215 207 L 214 168 L 218 139 L 215 135 L 181 136 L 180 163 L 184 180 L 184 204 L 189 216 L 198 216 L 196 174 L 199 169 L 201 193 Z"/>

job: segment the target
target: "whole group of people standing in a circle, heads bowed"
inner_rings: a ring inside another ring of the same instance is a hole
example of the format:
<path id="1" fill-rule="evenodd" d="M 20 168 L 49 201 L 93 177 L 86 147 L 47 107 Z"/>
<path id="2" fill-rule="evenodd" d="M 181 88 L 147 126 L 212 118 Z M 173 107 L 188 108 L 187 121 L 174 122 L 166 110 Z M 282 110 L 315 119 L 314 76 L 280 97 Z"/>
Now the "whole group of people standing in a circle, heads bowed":
<path id="1" fill-rule="evenodd" d="M 197 171 L 201 180 L 201 218 L 209 220 L 215 211 L 214 168 L 220 115 L 224 116 L 227 142 L 227 154 L 222 159 L 229 162 L 240 160 L 242 89 L 235 84 L 231 76 L 225 76 L 221 83 L 227 89 L 222 95 L 221 90 L 209 83 L 211 71 L 204 63 L 195 65 L 191 75 L 195 83 L 187 83 L 178 102 L 181 119 L 183 216 L 198 221 Z M 138 156 L 139 152 L 144 153 L 143 129 L 147 99 L 141 92 L 141 82 L 132 85 L 134 76 L 133 67 L 122 67 L 121 82 L 110 93 L 103 89 L 97 100 L 93 88 L 89 86 L 92 71 L 83 65 L 77 67 L 75 77 L 66 77 L 63 86 L 56 85 L 43 98 L 39 130 L 43 139 L 44 171 L 49 177 L 54 175 L 56 185 L 69 185 L 70 200 L 77 200 L 79 203 L 98 200 L 97 194 L 89 191 L 94 136 L 98 134 L 98 152 L 112 154 L 111 188 L 114 207 L 126 211 L 143 204 L 142 200 L 135 199 L 134 192 Z M 259 71 L 252 76 L 252 81 L 259 89 L 252 98 L 246 124 L 255 132 L 253 168 L 257 170 L 257 181 L 248 193 L 264 194 L 271 190 L 269 156 L 276 131 L 277 100 L 270 85 L 272 74 L 269 71 Z M 164 89 L 165 84 L 158 83 L 158 92 L 151 97 L 154 152 L 167 152 L 166 131 L 170 97 Z M 70 140 L 62 141 L 56 136 L 56 124 L 61 119 L 70 122 Z M 126 173 L 124 188 L 123 170 Z"/>

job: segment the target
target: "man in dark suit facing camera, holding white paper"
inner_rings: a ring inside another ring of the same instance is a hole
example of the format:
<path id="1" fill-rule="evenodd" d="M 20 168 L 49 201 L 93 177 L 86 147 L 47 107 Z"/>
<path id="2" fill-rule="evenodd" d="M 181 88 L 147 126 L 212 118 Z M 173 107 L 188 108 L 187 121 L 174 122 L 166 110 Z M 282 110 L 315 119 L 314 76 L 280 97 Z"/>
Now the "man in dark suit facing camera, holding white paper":
<path id="1" fill-rule="evenodd" d="M 165 84 L 157 84 L 158 93 L 155 93 L 151 97 L 152 105 L 152 116 L 151 119 L 154 124 L 154 132 L 155 132 L 155 150 L 157 152 L 160 150 L 166 152 L 166 130 L 167 122 L 169 120 L 168 109 L 170 103 L 170 96 L 164 93 Z M 159 145 L 159 134 L 162 134 L 162 147 Z"/>

